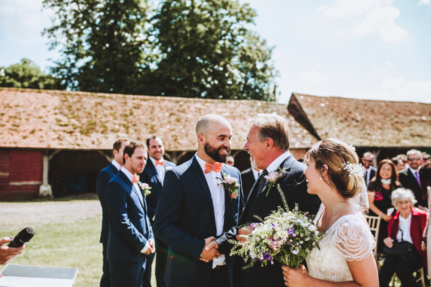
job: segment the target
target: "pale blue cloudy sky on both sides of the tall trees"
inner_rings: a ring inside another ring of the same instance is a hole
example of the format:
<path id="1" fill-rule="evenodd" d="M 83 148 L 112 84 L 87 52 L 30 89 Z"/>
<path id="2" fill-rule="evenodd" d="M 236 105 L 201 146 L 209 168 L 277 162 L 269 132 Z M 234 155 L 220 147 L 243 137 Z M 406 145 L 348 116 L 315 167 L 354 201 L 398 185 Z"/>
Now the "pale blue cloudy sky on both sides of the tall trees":
<path id="1" fill-rule="evenodd" d="M 431 103 L 431 0 L 240 0 L 275 47 L 286 103 L 292 92 Z M 0 0 L 0 66 L 58 58 L 40 32 L 42 0 Z"/>

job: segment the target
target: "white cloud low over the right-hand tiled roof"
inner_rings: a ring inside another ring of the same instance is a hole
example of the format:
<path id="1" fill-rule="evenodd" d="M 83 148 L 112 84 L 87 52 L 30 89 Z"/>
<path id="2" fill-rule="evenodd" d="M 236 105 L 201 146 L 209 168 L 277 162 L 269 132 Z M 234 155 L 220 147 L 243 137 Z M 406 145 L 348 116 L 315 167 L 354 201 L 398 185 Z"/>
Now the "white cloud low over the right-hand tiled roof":
<path id="1" fill-rule="evenodd" d="M 359 99 L 431 103 L 431 79 L 428 81 L 409 81 L 406 83 L 405 76 L 387 76 L 378 90 L 350 93 L 346 96 Z"/>

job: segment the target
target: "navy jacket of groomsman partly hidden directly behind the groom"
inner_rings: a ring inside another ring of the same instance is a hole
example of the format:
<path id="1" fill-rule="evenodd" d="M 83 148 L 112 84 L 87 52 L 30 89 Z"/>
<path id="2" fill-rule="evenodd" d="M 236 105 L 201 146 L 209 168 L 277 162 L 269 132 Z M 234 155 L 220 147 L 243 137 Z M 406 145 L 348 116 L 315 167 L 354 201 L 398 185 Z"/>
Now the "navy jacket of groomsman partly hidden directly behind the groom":
<path id="1" fill-rule="evenodd" d="M 165 160 L 166 167 L 176 167 L 177 165 Z M 151 220 L 156 215 L 156 208 L 158 202 L 158 195 L 160 195 L 162 185 L 161 179 L 158 178 L 156 167 L 154 166 L 151 159 L 148 158 L 147 165 L 145 165 L 144 171 L 139 175 L 140 181 L 148 183 L 151 187 L 151 193 L 147 196 L 148 204 L 148 217 Z"/>

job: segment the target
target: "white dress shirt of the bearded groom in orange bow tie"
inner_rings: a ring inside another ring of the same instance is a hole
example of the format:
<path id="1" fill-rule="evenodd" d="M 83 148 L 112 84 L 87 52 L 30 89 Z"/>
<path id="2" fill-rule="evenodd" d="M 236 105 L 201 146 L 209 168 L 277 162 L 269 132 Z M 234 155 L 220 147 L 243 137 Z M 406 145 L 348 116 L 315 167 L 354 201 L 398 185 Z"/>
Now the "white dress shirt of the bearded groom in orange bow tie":
<path id="1" fill-rule="evenodd" d="M 222 235 L 223 225 L 225 224 L 225 188 L 220 183 L 222 178 L 221 172 L 211 171 L 205 174 L 205 161 L 202 160 L 196 154 L 197 163 L 199 163 L 204 172 L 206 183 L 208 183 L 209 190 L 211 192 L 211 199 L 213 199 L 214 206 L 214 217 L 215 217 L 215 228 L 217 229 L 217 236 Z M 213 268 L 217 265 L 225 265 L 226 259 L 225 255 L 213 259 Z"/>

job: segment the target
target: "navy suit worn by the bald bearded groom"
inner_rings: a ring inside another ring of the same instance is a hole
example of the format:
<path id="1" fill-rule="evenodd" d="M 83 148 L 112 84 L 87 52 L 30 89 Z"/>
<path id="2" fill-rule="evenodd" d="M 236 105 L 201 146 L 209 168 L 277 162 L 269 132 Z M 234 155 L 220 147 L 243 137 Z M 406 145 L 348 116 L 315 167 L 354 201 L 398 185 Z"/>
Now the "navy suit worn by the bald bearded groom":
<path id="1" fill-rule="evenodd" d="M 236 167 L 222 164 L 222 174 L 238 179 Z M 237 199 L 230 199 L 225 190 L 225 224 L 223 231 L 235 227 L 238 213 L 243 208 L 242 189 Z M 213 201 L 202 168 L 195 156 L 165 174 L 158 198 L 154 233 L 169 245 L 165 284 L 168 287 L 206 287 L 211 280 L 212 261 L 200 261 L 205 238 L 216 236 Z M 232 278 L 233 260 L 226 256 L 229 279 Z"/>

